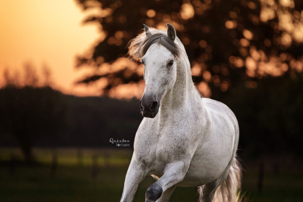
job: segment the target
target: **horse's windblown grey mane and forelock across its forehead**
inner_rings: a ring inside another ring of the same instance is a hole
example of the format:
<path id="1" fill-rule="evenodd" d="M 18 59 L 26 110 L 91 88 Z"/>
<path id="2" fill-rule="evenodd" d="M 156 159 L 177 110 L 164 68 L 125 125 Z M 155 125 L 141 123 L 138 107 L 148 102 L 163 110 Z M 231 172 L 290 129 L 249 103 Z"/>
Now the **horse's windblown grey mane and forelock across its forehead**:
<path id="1" fill-rule="evenodd" d="M 151 31 L 150 35 L 146 36 L 145 31 L 143 31 L 141 34 L 129 41 L 128 55 L 130 57 L 134 60 L 140 61 L 148 48 L 154 43 L 163 45 L 175 56 L 175 58 L 182 54 L 182 48 L 179 45 L 181 41 L 178 38 L 173 42 L 167 37 L 166 31 L 155 28 L 149 29 Z"/>

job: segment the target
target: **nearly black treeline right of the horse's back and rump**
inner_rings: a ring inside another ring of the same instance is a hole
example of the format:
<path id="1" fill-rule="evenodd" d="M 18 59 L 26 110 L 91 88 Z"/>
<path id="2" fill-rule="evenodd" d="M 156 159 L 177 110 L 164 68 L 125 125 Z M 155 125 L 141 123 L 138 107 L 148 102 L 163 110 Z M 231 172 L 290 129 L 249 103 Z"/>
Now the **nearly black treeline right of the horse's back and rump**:
<path id="1" fill-rule="evenodd" d="M 229 92 L 213 91 L 235 113 L 239 127 L 239 153 L 245 157 L 302 155 L 303 75 L 267 77 L 257 88 L 238 85 Z"/>

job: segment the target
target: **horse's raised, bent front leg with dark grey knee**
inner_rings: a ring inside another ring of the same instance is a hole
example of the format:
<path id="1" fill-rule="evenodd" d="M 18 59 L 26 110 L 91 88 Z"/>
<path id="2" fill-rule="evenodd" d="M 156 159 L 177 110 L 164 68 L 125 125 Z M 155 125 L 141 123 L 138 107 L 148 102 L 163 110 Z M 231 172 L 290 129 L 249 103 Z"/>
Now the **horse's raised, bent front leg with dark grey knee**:
<path id="1" fill-rule="evenodd" d="M 145 202 L 158 200 L 164 191 L 181 182 L 187 173 L 189 163 L 186 161 L 175 161 L 167 164 L 162 177 L 146 190 Z"/>

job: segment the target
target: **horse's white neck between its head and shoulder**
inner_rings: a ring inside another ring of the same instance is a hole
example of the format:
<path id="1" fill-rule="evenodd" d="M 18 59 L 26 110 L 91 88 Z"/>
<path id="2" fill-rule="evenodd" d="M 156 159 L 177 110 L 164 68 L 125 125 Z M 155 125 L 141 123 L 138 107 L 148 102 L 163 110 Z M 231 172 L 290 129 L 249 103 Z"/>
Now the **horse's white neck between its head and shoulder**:
<path id="1" fill-rule="evenodd" d="M 200 97 L 200 95 L 192 82 L 190 63 L 185 54 L 177 60 L 176 82 L 171 91 L 167 92 L 162 99 L 160 113 L 163 115 L 170 113 L 171 109 L 182 109 L 197 97 Z"/>

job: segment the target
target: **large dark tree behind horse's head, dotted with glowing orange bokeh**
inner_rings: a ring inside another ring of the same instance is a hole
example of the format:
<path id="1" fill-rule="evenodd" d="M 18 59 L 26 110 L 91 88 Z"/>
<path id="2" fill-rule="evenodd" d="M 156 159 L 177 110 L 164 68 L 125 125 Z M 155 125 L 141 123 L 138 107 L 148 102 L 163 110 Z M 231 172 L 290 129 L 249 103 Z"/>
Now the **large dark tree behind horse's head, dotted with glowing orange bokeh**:
<path id="1" fill-rule="evenodd" d="M 246 80 L 302 71 L 301 0 L 77 2 L 83 10 L 99 8 L 100 12 L 88 16 L 84 23 L 96 22 L 101 30 L 100 42 L 89 54 L 78 57 L 78 67 L 91 65 L 102 69 L 104 63 L 111 64 L 127 54 L 128 41 L 138 34 L 143 23 L 163 29 L 171 23 L 194 68 L 194 82 L 208 82 L 211 90 L 219 87 L 227 91 L 238 83 L 244 85 Z M 96 71 L 80 82 L 105 77 L 107 94 L 112 87 L 142 79 L 142 74 L 136 69 L 130 71 L 128 65 L 121 64 L 124 68 L 117 71 Z"/>

